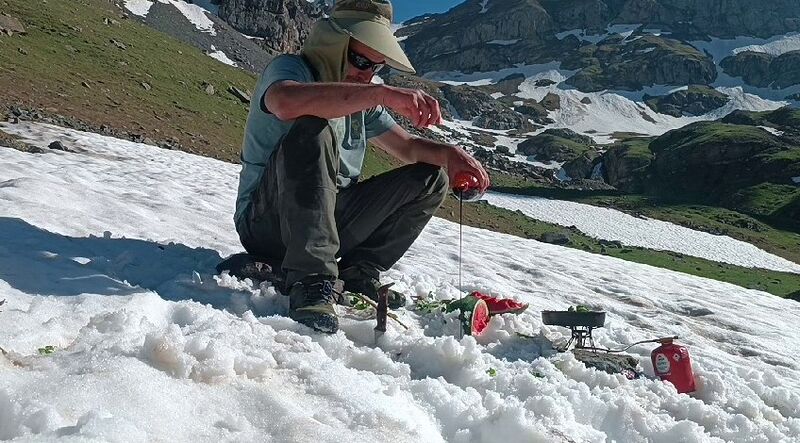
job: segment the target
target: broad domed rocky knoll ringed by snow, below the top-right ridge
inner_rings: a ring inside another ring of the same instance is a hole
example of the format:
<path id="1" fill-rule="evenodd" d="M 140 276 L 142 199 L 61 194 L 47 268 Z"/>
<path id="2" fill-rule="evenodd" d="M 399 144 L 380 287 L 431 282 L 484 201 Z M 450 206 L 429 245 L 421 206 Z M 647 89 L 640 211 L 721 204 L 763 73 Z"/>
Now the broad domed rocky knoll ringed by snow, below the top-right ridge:
<path id="1" fill-rule="evenodd" d="M 584 92 L 709 84 L 717 75 L 716 66 L 707 55 L 686 43 L 655 35 L 630 40 L 612 36 L 580 48 L 562 66 L 581 69 L 566 83 Z"/>

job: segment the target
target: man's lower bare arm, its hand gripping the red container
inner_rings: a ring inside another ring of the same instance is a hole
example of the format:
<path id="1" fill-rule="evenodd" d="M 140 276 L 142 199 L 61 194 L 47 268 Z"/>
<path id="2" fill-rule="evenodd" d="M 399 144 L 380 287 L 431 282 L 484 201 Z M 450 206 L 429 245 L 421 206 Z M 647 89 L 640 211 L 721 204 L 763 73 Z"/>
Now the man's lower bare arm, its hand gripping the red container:
<path id="1" fill-rule="evenodd" d="M 446 168 L 451 183 L 456 174 L 466 171 L 478 178 L 481 192 L 489 188 L 489 174 L 480 162 L 457 146 L 415 137 L 400 125 L 392 126 L 371 141 L 403 163 L 429 163 Z"/>

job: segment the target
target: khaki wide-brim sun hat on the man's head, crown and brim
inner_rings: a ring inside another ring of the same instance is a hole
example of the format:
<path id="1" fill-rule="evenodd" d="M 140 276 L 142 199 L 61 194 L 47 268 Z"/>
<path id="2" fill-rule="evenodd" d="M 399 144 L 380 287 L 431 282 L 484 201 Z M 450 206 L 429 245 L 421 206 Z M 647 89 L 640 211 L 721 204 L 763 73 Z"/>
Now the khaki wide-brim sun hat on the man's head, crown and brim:
<path id="1" fill-rule="evenodd" d="M 330 22 L 337 31 L 380 52 L 392 68 L 416 72 L 392 32 L 392 4 L 388 0 L 339 0 Z"/>

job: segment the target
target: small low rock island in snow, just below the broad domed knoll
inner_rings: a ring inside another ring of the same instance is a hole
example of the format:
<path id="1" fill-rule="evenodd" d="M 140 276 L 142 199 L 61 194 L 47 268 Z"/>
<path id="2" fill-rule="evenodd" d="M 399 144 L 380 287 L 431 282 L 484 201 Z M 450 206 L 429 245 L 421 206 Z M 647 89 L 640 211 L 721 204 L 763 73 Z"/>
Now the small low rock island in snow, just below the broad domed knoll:
<path id="1" fill-rule="evenodd" d="M 673 117 L 707 114 L 725 106 L 729 101 L 727 95 L 705 85 L 690 85 L 685 90 L 661 97 L 644 95 L 644 102 L 650 109 Z"/>

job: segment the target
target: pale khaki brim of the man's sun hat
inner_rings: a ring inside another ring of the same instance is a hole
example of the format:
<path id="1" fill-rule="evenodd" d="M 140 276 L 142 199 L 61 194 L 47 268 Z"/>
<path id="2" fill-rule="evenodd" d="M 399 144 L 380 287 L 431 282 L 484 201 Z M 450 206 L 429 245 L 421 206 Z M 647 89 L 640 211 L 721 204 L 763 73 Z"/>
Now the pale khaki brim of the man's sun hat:
<path id="1" fill-rule="evenodd" d="M 354 39 L 383 54 L 386 57 L 386 64 L 392 68 L 410 74 L 417 72 L 397 41 L 397 37 L 383 23 L 351 18 L 332 18 L 331 22 L 334 23 L 334 27 L 338 26 Z"/>

